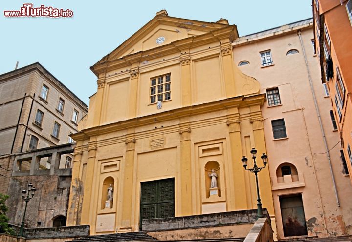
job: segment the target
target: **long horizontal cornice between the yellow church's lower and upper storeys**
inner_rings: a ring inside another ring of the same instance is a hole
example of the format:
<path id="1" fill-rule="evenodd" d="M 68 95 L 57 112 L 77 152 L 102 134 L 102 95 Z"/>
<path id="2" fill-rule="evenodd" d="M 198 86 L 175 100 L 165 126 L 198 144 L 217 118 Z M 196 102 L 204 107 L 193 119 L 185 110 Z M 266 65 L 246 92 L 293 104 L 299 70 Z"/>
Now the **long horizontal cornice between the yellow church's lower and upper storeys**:
<path id="1" fill-rule="evenodd" d="M 180 117 L 187 117 L 198 115 L 202 113 L 219 111 L 223 109 L 229 109 L 232 107 L 242 107 L 251 105 L 262 106 L 265 101 L 265 94 L 257 94 L 248 97 L 240 96 L 234 98 L 223 99 L 219 101 L 213 101 L 204 104 L 198 104 L 193 106 L 181 107 L 162 113 L 151 114 L 143 117 L 136 117 L 129 120 L 118 121 L 102 126 L 91 127 L 84 129 L 81 132 L 71 135 L 75 141 L 86 139 L 87 137 L 94 135 L 101 135 L 110 133 L 118 130 L 123 130 L 129 127 L 143 126 L 146 124 L 154 123 L 155 119 L 158 121 L 168 121 L 172 119 L 179 119 Z"/>

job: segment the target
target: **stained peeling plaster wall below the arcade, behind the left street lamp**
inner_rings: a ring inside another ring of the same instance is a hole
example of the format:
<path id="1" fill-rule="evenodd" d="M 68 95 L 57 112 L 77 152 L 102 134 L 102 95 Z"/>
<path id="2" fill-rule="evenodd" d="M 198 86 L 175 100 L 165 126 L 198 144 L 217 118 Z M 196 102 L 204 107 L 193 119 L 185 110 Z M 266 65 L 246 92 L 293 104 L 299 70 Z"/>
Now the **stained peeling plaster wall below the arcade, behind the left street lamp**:
<path id="1" fill-rule="evenodd" d="M 6 201 L 9 223 L 19 225 L 22 222 L 25 202 L 22 201 L 21 191 L 27 188 L 28 183 L 32 183 L 37 191 L 28 202 L 25 227 L 52 227 L 53 218 L 67 216 L 70 176 L 19 176 L 12 177 L 9 183 L 8 192 L 11 196 Z"/>

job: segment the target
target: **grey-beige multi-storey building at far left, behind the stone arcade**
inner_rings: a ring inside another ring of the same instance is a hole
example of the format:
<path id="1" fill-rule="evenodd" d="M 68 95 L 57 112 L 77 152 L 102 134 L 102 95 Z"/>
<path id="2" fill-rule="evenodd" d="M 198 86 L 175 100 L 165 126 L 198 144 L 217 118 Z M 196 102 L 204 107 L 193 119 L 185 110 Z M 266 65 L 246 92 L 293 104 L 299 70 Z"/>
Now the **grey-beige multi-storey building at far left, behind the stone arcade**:
<path id="1" fill-rule="evenodd" d="M 73 142 L 69 135 L 87 112 L 87 105 L 38 62 L 0 75 L 0 192 L 7 192 L 13 154 Z M 67 154 L 60 168 L 71 164 Z M 49 169 L 50 160 L 41 159 L 39 168 Z"/>

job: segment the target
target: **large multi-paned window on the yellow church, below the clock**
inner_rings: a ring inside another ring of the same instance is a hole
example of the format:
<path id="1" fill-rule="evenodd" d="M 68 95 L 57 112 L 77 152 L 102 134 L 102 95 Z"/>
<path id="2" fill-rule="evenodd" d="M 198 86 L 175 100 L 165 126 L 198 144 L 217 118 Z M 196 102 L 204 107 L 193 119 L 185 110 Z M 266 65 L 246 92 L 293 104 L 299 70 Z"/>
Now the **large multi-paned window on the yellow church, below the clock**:
<path id="1" fill-rule="evenodd" d="M 150 80 L 150 103 L 171 99 L 171 74 L 154 77 Z"/>

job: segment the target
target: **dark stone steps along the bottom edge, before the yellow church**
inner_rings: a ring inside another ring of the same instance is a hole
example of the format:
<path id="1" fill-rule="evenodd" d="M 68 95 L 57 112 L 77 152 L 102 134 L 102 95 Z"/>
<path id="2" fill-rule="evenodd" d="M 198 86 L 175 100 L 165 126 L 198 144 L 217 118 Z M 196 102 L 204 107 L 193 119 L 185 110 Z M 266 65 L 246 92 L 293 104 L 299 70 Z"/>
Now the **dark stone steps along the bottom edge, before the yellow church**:
<path id="1" fill-rule="evenodd" d="M 243 242 L 244 238 L 221 238 L 221 239 L 199 239 L 199 240 L 178 240 L 173 242 Z M 146 232 L 131 232 L 106 235 L 85 236 L 72 240 L 72 242 L 119 242 L 119 241 L 158 241 Z M 164 241 L 166 242 L 166 241 Z"/>

